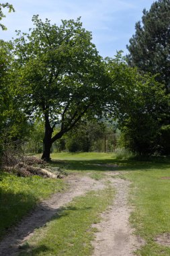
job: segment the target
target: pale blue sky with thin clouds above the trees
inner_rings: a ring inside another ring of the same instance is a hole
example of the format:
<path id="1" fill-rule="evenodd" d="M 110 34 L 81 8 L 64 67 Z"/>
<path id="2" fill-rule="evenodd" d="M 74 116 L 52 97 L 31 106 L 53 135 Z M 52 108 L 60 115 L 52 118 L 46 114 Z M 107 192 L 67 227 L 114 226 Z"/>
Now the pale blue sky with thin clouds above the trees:
<path id="1" fill-rule="evenodd" d="M 4 1 L 5 2 L 5 1 Z M 114 57 L 116 51 L 127 53 L 126 44 L 134 26 L 141 20 L 142 10 L 150 9 L 153 0 L 9 0 L 15 13 L 7 13 L 3 24 L 7 31 L 0 31 L 0 38 L 15 38 L 15 30 L 28 32 L 32 28 L 32 15 L 60 25 L 60 20 L 81 16 L 83 27 L 92 32 L 93 42 L 102 57 Z"/>

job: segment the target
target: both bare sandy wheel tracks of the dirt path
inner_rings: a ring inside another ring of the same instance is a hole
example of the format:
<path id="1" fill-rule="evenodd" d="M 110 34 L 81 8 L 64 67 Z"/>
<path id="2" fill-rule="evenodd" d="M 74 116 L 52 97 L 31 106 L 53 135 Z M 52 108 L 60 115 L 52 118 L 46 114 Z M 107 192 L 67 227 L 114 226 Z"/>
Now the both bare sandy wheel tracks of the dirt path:
<path id="1" fill-rule="evenodd" d="M 140 239 L 132 234 L 134 230 L 128 222 L 132 211 L 127 203 L 130 183 L 118 178 L 113 179 L 110 176 L 111 173 L 116 175 L 118 172 L 114 172 L 114 174 L 113 172 L 105 172 L 108 174 L 107 179 L 116 187 L 116 199 L 114 199 L 113 205 L 101 215 L 102 222 L 94 225 L 99 232 L 96 233 L 93 242 L 93 256 L 130 256 L 133 255 L 134 250 L 142 245 Z M 44 226 L 60 210 L 60 207 L 65 206 L 74 197 L 83 195 L 87 191 L 105 187 L 104 180 L 95 181 L 88 174 L 84 177 L 71 174 L 66 180 L 70 185 L 69 191 L 56 193 L 50 199 L 42 201 L 1 241 L 0 255 L 17 255 L 21 251 L 19 247 L 34 234 L 34 230 Z"/>

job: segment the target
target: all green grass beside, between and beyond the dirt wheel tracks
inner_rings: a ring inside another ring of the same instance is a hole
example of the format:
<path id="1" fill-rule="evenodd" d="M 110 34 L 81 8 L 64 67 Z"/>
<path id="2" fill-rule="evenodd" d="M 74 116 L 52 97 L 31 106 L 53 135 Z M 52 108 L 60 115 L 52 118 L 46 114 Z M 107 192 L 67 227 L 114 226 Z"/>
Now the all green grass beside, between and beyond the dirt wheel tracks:
<path id="1" fill-rule="evenodd" d="M 136 254 L 142 256 L 170 255 L 170 247 L 161 246 L 155 242 L 155 238 L 159 234 L 170 233 L 169 158 L 120 160 L 114 154 L 59 153 L 52 154 L 51 165 L 60 166 L 68 173 L 85 174 L 88 172 L 96 180 L 102 179 L 106 170 L 119 171 L 120 177 L 132 182 L 129 197 L 130 204 L 134 206 L 134 212 L 130 217 L 130 222 L 135 227 L 136 234 L 145 241 L 145 245 Z M 62 181 L 39 177 L 19 178 L 1 173 L 0 180 L 1 235 L 11 224 L 26 214 L 40 198 L 47 197 L 54 189 L 61 190 L 63 188 Z M 91 240 L 94 232 L 90 228 L 91 224 L 98 220 L 97 214 L 107 207 L 113 193 L 108 189 L 100 194 L 90 192 L 85 197 L 77 198 L 73 203 L 63 208 L 52 222 L 48 223 L 43 229 L 42 236 L 38 233 L 37 238 L 34 238 L 34 241 L 29 241 L 29 244 L 25 246 L 32 249 L 32 255 L 54 255 L 54 252 L 56 255 L 90 255 L 91 245 L 88 241 Z M 104 201 L 105 204 L 101 203 Z M 91 222 L 88 222 L 86 216 L 90 217 Z M 84 228 L 84 222 L 89 228 Z M 85 240 L 80 241 L 79 232 L 83 237 L 82 239 Z M 76 234 L 75 240 L 73 233 Z M 56 251 L 56 247 L 53 246 L 56 234 L 57 250 L 60 251 Z M 52 240 L 53 236 L 54 240 Z M 53 242 L 50 243 L 50 240 Z M 81 248 L 78 241 L 80 241 Z M 66 251 L 62 248 L 62 243 Z M 43 250 L 46 254 L 43 254 Z M 77 251 L 81 253 L 77 253 Z"/>

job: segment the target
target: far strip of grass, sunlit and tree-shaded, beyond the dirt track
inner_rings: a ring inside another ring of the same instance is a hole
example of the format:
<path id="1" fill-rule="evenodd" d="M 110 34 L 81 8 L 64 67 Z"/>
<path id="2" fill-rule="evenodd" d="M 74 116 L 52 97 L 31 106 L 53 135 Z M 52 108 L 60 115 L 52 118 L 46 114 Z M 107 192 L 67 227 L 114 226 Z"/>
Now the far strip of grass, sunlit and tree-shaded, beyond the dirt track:
<path id="1" fill-rule="evenodd" d="M 59 166 L 69 172 L 104 172 L 161 170 L 169 168 L 169 158 L 116 159 L 113 153 L 58 153 L 51 154 L 51 166 Z"/>

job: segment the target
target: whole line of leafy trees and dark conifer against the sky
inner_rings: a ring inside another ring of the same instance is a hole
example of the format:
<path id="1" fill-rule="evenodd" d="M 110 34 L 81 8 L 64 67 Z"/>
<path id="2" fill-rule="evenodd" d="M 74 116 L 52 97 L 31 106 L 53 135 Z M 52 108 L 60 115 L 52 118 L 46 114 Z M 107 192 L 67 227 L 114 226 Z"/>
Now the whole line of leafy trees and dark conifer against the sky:
<path id="1" fill-rule="evenodd" d="M 126 57 L 103 59 L 80 18 L 57 26 L 34 15 L 29 33 L 1 40 L 1 152 L 5 141 L 26 140 L 39 122 L 48 161 L 52 143 L 65 134 L 76 140 L 86 122 L 109 119 L 118 122 L 126 148 L 169 154 L 169 14 L 167 0 L 144 9 Z"/>

